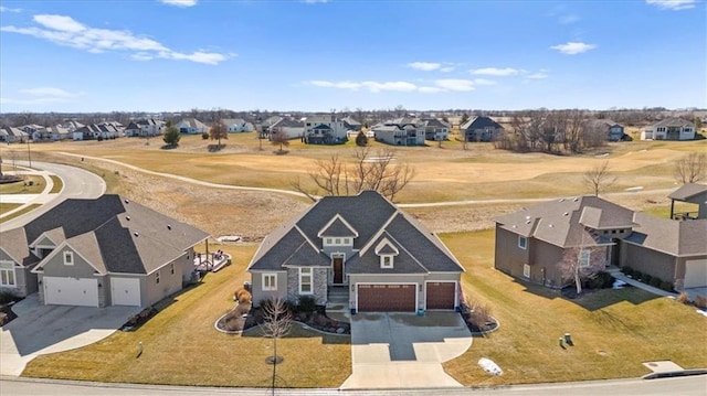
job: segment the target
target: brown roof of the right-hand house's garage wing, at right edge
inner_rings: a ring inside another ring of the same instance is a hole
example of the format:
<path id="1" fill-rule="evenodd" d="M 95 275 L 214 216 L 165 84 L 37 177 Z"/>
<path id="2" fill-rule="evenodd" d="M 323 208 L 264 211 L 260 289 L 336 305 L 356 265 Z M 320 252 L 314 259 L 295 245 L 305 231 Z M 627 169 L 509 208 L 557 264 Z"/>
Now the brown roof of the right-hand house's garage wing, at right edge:
<path id="1" fill-rule="evenodd" d="M 636 213 L 635 223 L 625 238 L 631 243 L 677 257 L 707 255 L 707 218 L 680 222 Z"/>

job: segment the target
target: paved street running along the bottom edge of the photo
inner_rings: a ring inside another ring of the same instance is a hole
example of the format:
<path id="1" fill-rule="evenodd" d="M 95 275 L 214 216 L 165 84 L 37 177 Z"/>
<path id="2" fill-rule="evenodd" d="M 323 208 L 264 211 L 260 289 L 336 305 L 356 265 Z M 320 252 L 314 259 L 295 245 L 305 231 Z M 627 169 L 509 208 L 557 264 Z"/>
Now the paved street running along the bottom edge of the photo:
<path id="1" fill-rule="evenodd" d="M 276 395 L 287 396 L 437 396 L 437 395 L 468 395 L 468 396 L 705 396 L 707 393 L 707 376 L 689 376 L 665 379 L 621 379 L 591 381 L 581 383 L 539 384 L 523 386 L 503 386 L 494 388 L 444 388 L 444 389 L 376 389 L 376 390 L 340 390 L 340 389 L 277 389 Z M 96 396 L 186 396 L 186 395 L 271 395 L 270 389 L 221 388 L 221 387 L 190 387 L 160 386 L 137 384 L 102 384 L 71 381 L 42 381 L 30 378 L 0 377 L 0 394 L 24 395 L 96 395 Z"/>

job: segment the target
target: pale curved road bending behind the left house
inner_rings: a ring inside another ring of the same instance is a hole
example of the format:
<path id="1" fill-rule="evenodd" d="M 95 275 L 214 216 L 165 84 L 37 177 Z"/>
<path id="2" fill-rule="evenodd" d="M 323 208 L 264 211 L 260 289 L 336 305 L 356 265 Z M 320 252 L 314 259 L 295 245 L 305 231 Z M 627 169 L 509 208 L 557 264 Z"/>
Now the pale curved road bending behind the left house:
<path id="1" fill-rule="evenodd" d="M 28 163 L 24 161 L 18 161 L 18 165 L 25 167 Z M 30 203 L 42 203 L 42 206 L 21 216 L 0 223 L 0 231 L 21 227 L 39 217 L 41 214 L 46 213 L 49 210 L 59 205 L 66 199 L 96 199 L 103 195 L 106 191 L 106 183 L 101 176 L 81 168 L 36 161 L 32 161 L 32 168 L 56 174 L 63 181 L 63 190 L 59 194 L 49 194 L 49 189 L 45 189 L 43 194 L 39 194 L 39 196 L 33 197 L 32 201 L 30 201 Z"/>

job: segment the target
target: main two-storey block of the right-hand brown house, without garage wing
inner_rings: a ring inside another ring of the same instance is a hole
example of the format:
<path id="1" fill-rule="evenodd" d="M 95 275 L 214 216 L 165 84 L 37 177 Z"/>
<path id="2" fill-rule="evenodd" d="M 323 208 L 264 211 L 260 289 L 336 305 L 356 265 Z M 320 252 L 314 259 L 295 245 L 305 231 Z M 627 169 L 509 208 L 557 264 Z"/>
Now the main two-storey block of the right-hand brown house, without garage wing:
<path id="1" fill-rule="evenodd" d="M 635 225 L 632 211 L 597 196 L 553 200 L 495 221 L 495 268 L 552 288 L 566 286 L 558 264 L 567 250 L 585 265 L 618 265 L 619 240 Z"/>

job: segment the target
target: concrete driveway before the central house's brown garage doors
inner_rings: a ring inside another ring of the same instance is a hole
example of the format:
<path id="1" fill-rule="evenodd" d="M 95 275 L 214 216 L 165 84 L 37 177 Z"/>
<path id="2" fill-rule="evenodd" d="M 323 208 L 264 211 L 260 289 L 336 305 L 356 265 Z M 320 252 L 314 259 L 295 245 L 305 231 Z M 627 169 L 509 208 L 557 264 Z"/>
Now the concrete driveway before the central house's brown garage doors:
<path id="1" fill-rule="evenodd" d="M 460 387 L 442 363 L 471 345 L 472 334 L 455 312 L 357 313 L 351 315 L 352 374 L 341 388 Z"/>

